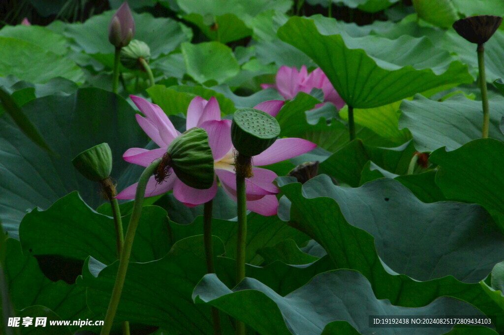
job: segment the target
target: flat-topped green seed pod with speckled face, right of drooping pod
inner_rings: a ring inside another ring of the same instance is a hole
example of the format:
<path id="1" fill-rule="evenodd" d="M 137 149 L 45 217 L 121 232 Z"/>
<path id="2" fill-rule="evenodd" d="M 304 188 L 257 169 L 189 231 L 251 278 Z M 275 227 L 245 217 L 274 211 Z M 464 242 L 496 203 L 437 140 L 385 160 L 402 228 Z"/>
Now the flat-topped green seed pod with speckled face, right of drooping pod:
<path id="1" fill-rule="evenodd" d="M 262 110 L 243 108 L 233 115 L 231 140 L 241 155 L 259 155 L 268 149 L 279 135 L 278 121 Z"/>

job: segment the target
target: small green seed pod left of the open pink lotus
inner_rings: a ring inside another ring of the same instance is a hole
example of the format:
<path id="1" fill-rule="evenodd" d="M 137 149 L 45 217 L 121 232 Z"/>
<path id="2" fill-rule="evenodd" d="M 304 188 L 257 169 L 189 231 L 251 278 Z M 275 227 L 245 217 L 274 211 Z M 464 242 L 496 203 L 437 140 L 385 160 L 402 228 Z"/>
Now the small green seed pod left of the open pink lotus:
<path id="1" fill-rule="evenodd" d="M 81 152 L 72 163 L 84 177 L 100 181 L 108 178 L 112 172 L 112 152 L 108 144 L 102 143 Z"/>

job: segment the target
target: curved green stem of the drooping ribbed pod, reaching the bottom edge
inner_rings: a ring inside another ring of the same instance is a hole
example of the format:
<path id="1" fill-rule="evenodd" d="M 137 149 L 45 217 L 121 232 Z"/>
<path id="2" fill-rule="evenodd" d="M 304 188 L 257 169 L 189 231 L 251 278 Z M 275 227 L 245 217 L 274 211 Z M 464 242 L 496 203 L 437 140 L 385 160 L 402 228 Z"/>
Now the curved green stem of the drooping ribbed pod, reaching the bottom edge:
<path id="1" fill-rule="evenodd" d="M 133 247 L 133 240 L 137 231 L 138 221 L 142 214 L 142 206 L 144 204 L 145 188 L 149 177 L 154 174 L 157 166 L 161 162 L 161 158 L 154 160 L 142 173 L 137 185 L 137 192 L 135 194 L 135 204 L 133 205 L 133 213 L 131 215 L 126 238 L 124 239 L 124 246 L 122 248 L 121 257 L 119 259 L 119 268 L 117 269 L 117 276 L 115 277 L 114 288 L 112 289 L 112 296 L 108 304 L 107 313 L 103 327 L 101 328 L 100 335 L 109 335 L 112 323 L 114 321 L 115 312 L 119 305 L 119 300 L 122 293 L 122 287 L 126 279 L 126 272 L 128 271 L 128 263 L 130 261 L 131 249 Z"/>

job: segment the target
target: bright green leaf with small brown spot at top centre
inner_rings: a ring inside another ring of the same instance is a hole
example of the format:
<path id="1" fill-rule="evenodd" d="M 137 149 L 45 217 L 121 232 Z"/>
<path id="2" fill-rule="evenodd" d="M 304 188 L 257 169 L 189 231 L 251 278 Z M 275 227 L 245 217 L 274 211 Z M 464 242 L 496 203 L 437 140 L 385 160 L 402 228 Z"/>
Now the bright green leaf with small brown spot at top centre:
<path id="1" fill-rule="evenodd" d="M 197 25 L 209 39 L 224 44 L 252 34 L 252 30 L 239 17 L 231 13 L 205 17 L 192 13 L 184 15 L 183 19 Z"/>

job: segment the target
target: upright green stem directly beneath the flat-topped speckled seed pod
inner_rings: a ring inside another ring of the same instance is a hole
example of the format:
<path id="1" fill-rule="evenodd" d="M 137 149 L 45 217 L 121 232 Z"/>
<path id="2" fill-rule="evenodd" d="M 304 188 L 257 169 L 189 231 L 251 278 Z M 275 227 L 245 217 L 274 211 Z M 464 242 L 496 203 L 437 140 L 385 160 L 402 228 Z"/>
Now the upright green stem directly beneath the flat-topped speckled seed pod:
<path id="1" fill-rule="evenodd" d="M 236 203 L 238 236 L 236 240 L 236 284 L 245 278 L 245 246 L 247 240 L 247 199 L 245 195 L 245 171 L 250 170 L 251 158 L 238 154 L 236 168 Z M 236 335 L 245 335 L 245 324 L 236 321 Z"/>

